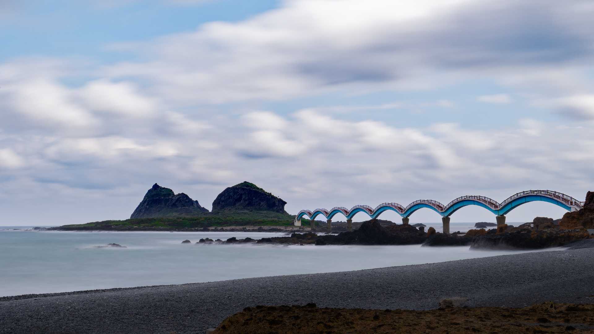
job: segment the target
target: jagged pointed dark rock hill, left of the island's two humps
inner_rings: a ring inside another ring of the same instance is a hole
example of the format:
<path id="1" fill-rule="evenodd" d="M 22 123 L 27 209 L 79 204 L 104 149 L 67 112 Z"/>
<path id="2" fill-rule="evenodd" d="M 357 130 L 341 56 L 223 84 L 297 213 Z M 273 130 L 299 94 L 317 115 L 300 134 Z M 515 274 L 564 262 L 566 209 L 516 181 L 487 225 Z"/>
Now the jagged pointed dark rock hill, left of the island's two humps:
<path id="1" fill-rule="evenodd" d="M 208 212 L 208 210 L 201 207 L 198 201 L 192 200 L 188 195 L 184 193 L 176 195 L 173 190 L 154 184 L 144 195 L 143 200 L 130 218 L 200 216 L 204 212 Z"/>

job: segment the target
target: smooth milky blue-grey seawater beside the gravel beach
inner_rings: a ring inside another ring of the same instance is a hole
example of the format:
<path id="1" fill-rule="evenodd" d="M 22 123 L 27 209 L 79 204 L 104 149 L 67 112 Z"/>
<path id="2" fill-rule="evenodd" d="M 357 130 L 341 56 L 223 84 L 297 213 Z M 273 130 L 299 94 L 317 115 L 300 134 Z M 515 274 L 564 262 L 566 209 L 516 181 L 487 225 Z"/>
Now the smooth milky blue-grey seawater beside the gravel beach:
<path id="1" fill-rule="evenodd" d="M 469 247 L 195 245 L 280 233 L 34 232 L 0 226 L 0 296 L 339 272 L 522 251 Z M 12 228 L 24 228 L 15 226 Z M 189 239 L 192 244 L 181 244 Z M 116 243 L 128 248 L 94 248 Z"/>

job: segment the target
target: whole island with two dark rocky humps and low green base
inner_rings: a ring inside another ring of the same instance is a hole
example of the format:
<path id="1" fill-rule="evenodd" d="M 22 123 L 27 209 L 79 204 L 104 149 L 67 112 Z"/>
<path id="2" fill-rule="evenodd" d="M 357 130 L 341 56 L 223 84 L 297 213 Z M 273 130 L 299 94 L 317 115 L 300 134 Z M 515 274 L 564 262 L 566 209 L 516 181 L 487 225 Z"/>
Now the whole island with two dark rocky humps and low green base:
<path id="1" fill-rule="evenodd" d="M 130 219 L 104 220 L 86 224 L 64 225 L 54 230 L 106 231 L 225 231 L 258 226 L 261 231 L 295 229 L 295 215 L 285 211 L 286 201 L 257 185 L 244 181 L 223 190 L 209 212 L 187 194 L 175 194 L 170 188 L 154 184 L 144 195 Z"/>

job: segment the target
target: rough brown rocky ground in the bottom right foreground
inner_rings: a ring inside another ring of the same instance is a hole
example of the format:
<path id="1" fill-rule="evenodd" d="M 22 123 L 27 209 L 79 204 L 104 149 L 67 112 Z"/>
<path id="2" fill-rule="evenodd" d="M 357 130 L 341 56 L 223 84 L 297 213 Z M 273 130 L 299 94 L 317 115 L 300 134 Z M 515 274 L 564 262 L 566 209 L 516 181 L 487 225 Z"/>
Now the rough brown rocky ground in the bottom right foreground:
<path id="1" fill-rule="evenodd" d="M 591 333 L 592 319 L 594 304 L 549 302 L 525 308 L 448 304 L 438 310 L 419 311 L 321 308 L 309 303 L 246 307 L 225 319 L 213 333 Z"/>

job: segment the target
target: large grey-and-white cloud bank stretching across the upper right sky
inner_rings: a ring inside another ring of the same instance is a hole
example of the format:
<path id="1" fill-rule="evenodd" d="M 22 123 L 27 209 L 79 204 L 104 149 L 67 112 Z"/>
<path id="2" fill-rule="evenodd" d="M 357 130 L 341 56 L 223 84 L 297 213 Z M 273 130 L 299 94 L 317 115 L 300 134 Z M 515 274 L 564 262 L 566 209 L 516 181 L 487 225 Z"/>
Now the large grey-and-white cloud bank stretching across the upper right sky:
<path id="1" fill-rule="evenodd" d="M 237 23 L 114 45 L 147 60 L 106 71 L 147 80 L 176 103 L 426 89 L 477 75 L 505 83 L 589 66 L 592 14 L 588 1 L 292 0 Z"/>

